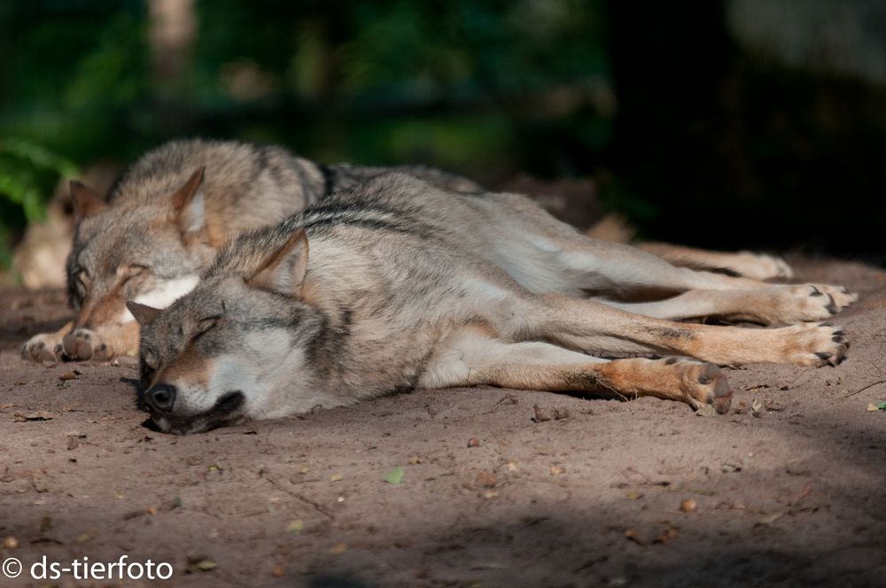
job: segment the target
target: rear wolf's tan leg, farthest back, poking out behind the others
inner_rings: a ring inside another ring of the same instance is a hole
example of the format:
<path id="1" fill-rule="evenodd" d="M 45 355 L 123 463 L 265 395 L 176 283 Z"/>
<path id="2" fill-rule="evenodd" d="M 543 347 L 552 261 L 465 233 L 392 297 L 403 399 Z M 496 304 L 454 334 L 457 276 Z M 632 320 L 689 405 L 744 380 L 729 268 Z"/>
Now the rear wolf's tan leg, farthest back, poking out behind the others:
<path id="1" fill-rule="evenodd" d="M 643 251 L 657 255 L 674 266 L 726 269 L 754 280 L 794 276 L 794 271 L 784 259 L 772 255 L 751 253 L 750 251 L 738 251 L 737 253 L 706 251 L 667 243 L 640 243 L 636 246 Z"/>

